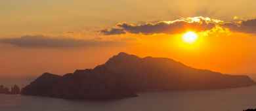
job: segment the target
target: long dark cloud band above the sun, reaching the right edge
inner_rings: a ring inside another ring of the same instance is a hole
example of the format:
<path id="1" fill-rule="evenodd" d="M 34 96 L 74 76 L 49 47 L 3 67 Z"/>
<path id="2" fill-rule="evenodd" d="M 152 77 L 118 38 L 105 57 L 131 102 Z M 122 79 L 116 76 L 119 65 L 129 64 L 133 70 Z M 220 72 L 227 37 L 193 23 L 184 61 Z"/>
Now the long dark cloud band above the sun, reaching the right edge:
<path id="1" fill-rule="evenodd" d="M 236 31 L 241 33 L 256 33 L 256 19 L 242 20 L 240 22 L 223 22 L 221 20 L 214 20 L 211 18 L 195 17 L 195 18 L 181 18 L 180 20 L 174 20 L 169 22 L 157 22 L 147 24 L 117 24 L 110 29 L 104 29 L 101 31 L 104 35 L 120 35 L 125 33 L 134 34 L 154 34 L 165 33 L 175 34 L 182 33 L 187 30 L 193 31 L 207 31 L 213 29 L 216 26 L 220 26 L 230 31 Z"/>

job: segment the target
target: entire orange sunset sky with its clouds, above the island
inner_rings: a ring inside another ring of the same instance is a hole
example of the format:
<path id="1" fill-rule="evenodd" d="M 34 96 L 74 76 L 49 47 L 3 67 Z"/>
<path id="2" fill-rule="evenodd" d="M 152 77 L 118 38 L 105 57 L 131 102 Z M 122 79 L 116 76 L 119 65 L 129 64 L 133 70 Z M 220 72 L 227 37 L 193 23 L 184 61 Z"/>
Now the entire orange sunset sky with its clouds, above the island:
<path id="1" fill-rule="evenodd" d="M 253 74 L 255 10 L 255 0 L 1 0 L 0 76 L 65 74 L 118 52 Z"/>

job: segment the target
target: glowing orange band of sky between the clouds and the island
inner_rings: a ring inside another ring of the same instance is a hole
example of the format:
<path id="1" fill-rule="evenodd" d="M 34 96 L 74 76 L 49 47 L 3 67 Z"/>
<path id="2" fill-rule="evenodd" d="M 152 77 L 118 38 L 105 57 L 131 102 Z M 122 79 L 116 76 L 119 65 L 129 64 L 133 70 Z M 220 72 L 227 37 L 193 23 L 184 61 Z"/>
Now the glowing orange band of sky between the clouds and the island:
<path id="1" fill-rule="evenodd" d="M 124 39 L 127 43 L 121 46 L 31 48 L 2 44 L 0 71 L 16 76 L 43 72 L 65 74 L 75 69 L 93 68 L 118 52 L 127 52 L 140 57 L 169 57 L 198 69 L 223 73 L 256 72 L 256 39 L 253 35 L 232 32 L 217 35 L 198 33 L 198 40 L 192 44 L 182 40 L 182 33 L 121 35 L 131 37 L 131 40 Z"/>

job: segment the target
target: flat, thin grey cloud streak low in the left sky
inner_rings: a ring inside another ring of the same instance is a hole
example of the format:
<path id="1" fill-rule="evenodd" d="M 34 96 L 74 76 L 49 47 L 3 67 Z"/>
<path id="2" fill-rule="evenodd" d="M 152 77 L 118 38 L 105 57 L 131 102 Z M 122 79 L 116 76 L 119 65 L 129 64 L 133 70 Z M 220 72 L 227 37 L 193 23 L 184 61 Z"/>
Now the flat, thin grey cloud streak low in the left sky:
<path id="1" fill-rule="evenodd" d="M 45 37 L 43 35 L 27 35 L 19 38 L 0 39 L 1 43 L 28 48 L 67 48 L 83 46 L 116 46 L 123 42 L 103 40 L 79 40 L 70 38 Z"/>

